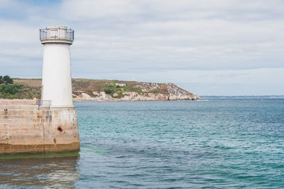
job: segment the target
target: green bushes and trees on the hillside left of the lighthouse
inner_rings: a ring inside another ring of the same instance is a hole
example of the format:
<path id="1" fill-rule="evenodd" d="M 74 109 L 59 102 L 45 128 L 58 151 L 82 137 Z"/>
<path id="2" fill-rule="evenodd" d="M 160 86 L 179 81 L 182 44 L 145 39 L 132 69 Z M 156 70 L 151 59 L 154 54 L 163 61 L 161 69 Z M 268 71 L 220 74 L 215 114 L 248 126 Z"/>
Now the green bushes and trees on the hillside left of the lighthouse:
<path id="1" fill-rule="evenodd" d="M 40 87 L 31 87 L 19 82 L 13 82 L 8 75 L 0 76 L 0 98 L 33 99 L 40 98 Z"/>

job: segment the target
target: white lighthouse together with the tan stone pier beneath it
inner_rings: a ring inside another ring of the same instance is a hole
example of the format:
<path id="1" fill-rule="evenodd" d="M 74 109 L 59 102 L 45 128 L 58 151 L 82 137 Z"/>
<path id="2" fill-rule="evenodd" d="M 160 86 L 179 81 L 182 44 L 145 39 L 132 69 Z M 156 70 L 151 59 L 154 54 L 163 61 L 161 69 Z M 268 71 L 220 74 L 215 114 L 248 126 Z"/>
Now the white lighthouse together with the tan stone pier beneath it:
<path id="1" fill-rule="evenodd" d="M 0 99 L 0 154 L 75 151 L 77 156 L 80 138 L 70 68 L 73 41 L 74 31 L 65 26 L 40 29 L 41 99 Z"/>

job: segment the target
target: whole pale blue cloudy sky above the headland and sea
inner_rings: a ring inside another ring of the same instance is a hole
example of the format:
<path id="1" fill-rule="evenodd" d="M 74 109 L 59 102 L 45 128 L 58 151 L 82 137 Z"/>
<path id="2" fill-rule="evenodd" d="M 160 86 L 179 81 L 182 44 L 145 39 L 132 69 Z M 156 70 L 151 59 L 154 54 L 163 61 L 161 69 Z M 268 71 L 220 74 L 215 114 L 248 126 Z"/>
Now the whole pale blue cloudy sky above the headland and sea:
<path id="1" fill-rule="evenodd" d="M 55 25 L 75 30 L 75 78 L 284 95 L 283 0 L 0 0 L 0 75 L 41 77 Z"/>

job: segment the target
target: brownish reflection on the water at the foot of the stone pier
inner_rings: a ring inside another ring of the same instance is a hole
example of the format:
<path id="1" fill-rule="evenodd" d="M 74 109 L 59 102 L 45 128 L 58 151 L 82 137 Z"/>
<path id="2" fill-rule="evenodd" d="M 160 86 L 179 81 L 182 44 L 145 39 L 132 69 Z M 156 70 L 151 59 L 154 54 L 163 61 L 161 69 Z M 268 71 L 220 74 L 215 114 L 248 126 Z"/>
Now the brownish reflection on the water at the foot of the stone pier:
<path id="1" fill-rule="evenodd" d="M 2 158 L 0 160 L 1 188 L 15 186 L 74 188 L 76 180 L 80 178 L 77 168 L 78 160 L 78 156 Z"/>

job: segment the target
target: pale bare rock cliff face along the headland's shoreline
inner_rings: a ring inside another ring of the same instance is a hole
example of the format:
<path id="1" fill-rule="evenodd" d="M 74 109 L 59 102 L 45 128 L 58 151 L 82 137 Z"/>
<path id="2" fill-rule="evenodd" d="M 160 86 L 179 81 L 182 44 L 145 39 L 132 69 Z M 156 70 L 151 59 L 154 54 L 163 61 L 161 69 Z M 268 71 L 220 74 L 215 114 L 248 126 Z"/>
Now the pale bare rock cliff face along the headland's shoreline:
<path id="1" fill-rule="evenodd" d="M 104 91 L 100 92 L 84 92 L 74 91 L 73 99 L 77 102 L 82 101 L 157 101 L 157 100 L 197 100 L 201 99 L 191 92 L 183 90 L 173 83 L 165 83 L 159 85 L 154 82 L 139 82 L 135 85 L 139 92 L 122 91 L 107 94 Z"/>

